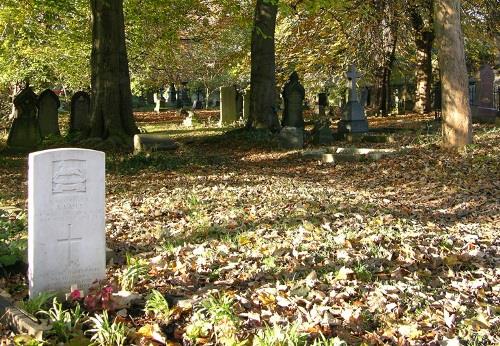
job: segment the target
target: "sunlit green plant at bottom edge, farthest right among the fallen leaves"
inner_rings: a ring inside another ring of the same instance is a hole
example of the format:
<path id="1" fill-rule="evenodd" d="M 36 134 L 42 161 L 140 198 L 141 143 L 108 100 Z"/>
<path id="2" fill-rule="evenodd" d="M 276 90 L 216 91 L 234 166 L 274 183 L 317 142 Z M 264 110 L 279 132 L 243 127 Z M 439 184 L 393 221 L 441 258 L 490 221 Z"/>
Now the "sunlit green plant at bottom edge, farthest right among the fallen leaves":
<path id="1" fill-rule="evenodd" d="M 298 331 L 298 325 L 288 324 L 280 327 L 275 324 L 259 331 L 253 339 L 254 346 L 305 346 L 307 334 Z"/>

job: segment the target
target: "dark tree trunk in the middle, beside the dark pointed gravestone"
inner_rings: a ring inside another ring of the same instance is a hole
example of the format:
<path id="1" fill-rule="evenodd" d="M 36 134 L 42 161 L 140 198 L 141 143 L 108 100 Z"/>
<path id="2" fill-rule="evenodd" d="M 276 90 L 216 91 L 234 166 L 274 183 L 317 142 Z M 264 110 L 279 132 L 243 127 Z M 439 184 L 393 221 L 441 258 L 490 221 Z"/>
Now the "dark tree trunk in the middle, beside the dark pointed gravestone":
<path id="1" fill-rule="evenodd" d="M 277 0 L 257 0 L 252 31 L 250 116 L 247 128 L 279 131 L 274 31 Z"/>

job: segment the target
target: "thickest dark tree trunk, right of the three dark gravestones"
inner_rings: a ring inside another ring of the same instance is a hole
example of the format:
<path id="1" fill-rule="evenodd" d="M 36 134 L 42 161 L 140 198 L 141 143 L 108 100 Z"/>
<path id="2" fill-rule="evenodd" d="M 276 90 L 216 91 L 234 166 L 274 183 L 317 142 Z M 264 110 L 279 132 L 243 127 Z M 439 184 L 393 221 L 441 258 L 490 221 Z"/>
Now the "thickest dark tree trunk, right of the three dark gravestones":
<path id="1" fill-rule="evenodd" d="M 91 137 L 130 144 L 138 133 L 125 47 L 123 0 L 91 0 Z"/>

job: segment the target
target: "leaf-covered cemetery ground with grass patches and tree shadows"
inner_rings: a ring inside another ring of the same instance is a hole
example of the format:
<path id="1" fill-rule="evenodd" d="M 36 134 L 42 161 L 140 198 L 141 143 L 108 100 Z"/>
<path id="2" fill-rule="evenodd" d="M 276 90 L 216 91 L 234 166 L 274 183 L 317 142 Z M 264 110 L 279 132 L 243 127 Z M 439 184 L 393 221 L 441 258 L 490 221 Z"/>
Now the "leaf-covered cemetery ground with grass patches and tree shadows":
<path id="1" fill-rule="evenodd" d="M 73 295 L 93 320 L 63 318 L 48 343 L 86 344 L 84 332 L 142 345 L 500 342 L 498 127 L 475 125 L 475 144 L 455 153 L 432 117 L 369 118 L 407 131 L 333 145 L 403 149 L 325 164 L 212 126 L 211 113 L 192 129 L 173 114 L 137 117 L 180 148 L 107 153 L 107 280 Z M 1 154 L 5 262 L 23 256 L 26 172 L 27 155 Z M 26 299 L 25 268 L 1 270 L 0 287 Z M 121 289 L 141 299 L 123 306 Z M 37 317 L 54 324 L 75 305 L 49 299 Z M 14 335 L 5 324 L 0 334 Z"/>

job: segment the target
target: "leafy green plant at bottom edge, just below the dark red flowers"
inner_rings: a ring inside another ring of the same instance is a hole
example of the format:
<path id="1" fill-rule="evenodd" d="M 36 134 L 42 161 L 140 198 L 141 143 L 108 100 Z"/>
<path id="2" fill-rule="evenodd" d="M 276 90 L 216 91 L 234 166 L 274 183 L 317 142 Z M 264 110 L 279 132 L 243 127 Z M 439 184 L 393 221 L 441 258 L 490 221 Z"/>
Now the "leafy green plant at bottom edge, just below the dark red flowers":
<path id="1" fill-rule="evenodd" d="M 99 346 L 123 346 L 127 340 L 127 326 L 121 322 L 109 322 L 108 312 L 104 310 L 102 315 L 96 314 L 91 317 L 93 328 L 87 332 L 92 333 L 91 345 Z"/>

